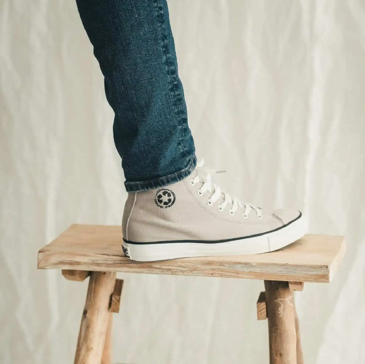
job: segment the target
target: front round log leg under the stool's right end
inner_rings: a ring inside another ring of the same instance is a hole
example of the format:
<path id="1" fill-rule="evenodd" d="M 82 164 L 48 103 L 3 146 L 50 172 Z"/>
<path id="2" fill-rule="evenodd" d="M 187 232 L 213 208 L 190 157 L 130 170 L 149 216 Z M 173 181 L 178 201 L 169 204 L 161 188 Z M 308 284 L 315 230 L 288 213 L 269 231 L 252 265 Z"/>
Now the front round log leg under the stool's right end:
<path id="1" fill-rule="evenodd" d="M 265 280 L 270 364 L 296 364 L 295 307 L 288 282 Z"/>

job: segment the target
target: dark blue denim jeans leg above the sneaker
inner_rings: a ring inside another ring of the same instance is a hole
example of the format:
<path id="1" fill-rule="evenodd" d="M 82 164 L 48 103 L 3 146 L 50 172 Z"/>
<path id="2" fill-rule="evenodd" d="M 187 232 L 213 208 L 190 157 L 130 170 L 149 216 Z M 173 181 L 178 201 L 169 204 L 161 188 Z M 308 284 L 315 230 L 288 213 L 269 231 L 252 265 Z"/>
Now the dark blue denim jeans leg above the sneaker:
<path id="1" fill-rule="evenodd" d="M 166 0 L 76 0 L 115 113 L 128 192 L 191 174 L 195 146 Z"/>

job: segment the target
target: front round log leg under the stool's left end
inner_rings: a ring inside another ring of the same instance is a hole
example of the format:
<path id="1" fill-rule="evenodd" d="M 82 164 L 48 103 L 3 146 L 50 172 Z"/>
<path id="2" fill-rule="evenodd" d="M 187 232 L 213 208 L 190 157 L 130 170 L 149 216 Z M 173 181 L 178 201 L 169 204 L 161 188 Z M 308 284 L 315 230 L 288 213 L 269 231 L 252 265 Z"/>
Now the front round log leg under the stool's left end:
<path id="1" fill-rule="evenodd" d="M 114 283 L 115 272 L 91 273 L 74 364 L 101 363 Z"/>

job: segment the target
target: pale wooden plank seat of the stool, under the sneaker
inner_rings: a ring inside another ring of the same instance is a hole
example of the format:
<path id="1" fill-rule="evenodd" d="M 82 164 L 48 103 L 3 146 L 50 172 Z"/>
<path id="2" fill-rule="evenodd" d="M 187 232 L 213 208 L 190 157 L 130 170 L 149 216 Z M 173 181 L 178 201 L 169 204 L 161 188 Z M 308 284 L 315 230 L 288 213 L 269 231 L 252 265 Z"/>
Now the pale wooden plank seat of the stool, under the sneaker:
<path id="1" fill-rule="evenodd" d="M 343 237 L 306 235 L 276 252 L 138 263 L 124 257 L 122 227 L 72 225 L 39 250 L 40 269 L 329 282 L 346 246 Z"/>

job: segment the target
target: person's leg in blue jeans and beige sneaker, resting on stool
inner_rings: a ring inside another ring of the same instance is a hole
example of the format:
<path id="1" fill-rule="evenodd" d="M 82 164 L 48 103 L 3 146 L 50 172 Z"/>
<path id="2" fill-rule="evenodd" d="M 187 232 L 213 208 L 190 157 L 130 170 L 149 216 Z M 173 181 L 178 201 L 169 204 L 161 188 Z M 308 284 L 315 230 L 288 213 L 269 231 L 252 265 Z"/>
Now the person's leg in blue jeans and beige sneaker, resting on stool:
<path id="1" fill-rule="evenodd" d="M 139 261 L 256 254 L 302 237 L 299 211 L 262 211 L 231 198 L 203 163 L 196 167 L 166 1 L 77 4 L 115 111 L 129 192 L 124 254 Z"/>

